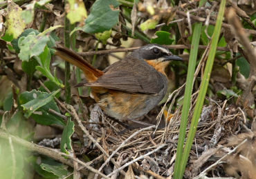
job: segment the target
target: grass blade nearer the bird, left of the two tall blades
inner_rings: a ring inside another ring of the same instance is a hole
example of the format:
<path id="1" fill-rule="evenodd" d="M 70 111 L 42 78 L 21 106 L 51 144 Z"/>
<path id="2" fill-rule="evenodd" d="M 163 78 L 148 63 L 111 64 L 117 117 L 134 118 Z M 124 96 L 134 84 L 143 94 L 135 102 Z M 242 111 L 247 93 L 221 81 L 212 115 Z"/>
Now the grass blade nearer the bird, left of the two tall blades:
<path id="1" fill-rule="evenodd" d="M 200 1 L 199 7 L 201 7 L 204 2 L 205 0 Z M 192 44 L 191 44 L 191 51 L 190 51 L 190 60 L 188 63 L 188 75 L 187 75 L 186 85 L 185 85 L 185 95 L 184 95 L 182 114 L 181 114 L 181 126 L 180 126 L 180 132 L 179 132 L 178 148 L 177 148 L 176 160 L 174 165 L 174 178 L 178 177 L 178 173 L 181 168 L 180 166 L 181 157 L 183 153 L 185 130 L 188 122 L 188 111 L 190 109 L 190 97 L 192 94 L 193 77 L 194 77 L 194 70 L 196 68 L 196 59 L 197 59 L 197 52 L 199 49 L 201 28 L 202 28 L 202 23 L 196 23 L 194 25 L 194 30 L 192 32 L 193 36 L 192 36 Z"/>

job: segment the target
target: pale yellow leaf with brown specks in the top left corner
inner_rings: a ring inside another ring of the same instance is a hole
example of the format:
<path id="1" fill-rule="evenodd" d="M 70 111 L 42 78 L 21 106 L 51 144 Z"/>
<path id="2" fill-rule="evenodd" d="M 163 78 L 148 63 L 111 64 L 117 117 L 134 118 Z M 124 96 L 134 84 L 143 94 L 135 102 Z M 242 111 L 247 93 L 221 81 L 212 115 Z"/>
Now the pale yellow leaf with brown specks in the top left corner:
<path id="1" fill-rule="evenodd" d="M 21 12 L 22 9 L 16 3 L 8 1 L 6 26 L 8 34 L 12 34 L 13 39 L 17 39 L 26 26 L 23 19 L 21 19 Z"/>

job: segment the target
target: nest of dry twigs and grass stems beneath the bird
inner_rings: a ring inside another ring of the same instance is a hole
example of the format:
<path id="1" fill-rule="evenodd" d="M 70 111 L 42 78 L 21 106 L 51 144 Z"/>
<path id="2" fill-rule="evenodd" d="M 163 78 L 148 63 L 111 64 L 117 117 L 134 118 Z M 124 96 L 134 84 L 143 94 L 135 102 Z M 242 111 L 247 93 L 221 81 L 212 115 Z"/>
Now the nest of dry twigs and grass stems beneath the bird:
<path id="1" fill-rule="evenodd" d="M 176 91 L 176 94 L 179 93 L 179 90 Z M 194 103 L 191 103 L 186 136 L 190 128 L 196 96 L 197 93 L 192 95 Z M 183 177 L 194 178 L 197 176 L 200 178 L 206 175 L 210 177 L 255 177 L 256 170 L 253 167 L 255 166 L 255 158 L 253 156 L 256 153 L 253 142 L 254 133 L 250 130 L 252 126 L 250 121 L 246 121 L 244 112 L 237 105 L 228 105 L 227 101 L 206 99 L 209 103 L 203 107 L 201 112 Z M 98 138 L 97 141 L 107 154 L 116 159 L 120 168 L 114 167 L 109 162 L 109 158 L 104 156 L 97 147 L 91 149 L 93 143 L 89 138 L 86 140 L 83 152 L 95 154 L 98 157 L 87 164 L 96 167 L 97 164 L 107 161 L 107 165 L 104 165 L 106 175 L 111 171 L 113 171 L 111 175 L 117 175 L 118 172 L 129 166 L 126 172 L 135 172 L 136 175 L 142 174 L 154 176 L 154 178 L 172 177 L 181 123 L 181 107 L 176 109 L 170 122 L 163 129 L 146 127 L 125 131 L 124 134 L 120 135 L 118 132 L 124 128 L 107 119 L 101 111 L 99 113 L 99 108 L 96 106 L 96 109 L 93 108 L 96 116 L 91 114 L 91 118 L 102 120 L 102 127 L 99 129 L 99 125 L 96 123 L 87 124 L 87 129 L 89 129 L 91 136 Z M 163 110 L 158 118 L 161 118 L 161 114 L 163 114 Z M 246 156 L 250 157 L 246 158 Z"/>

